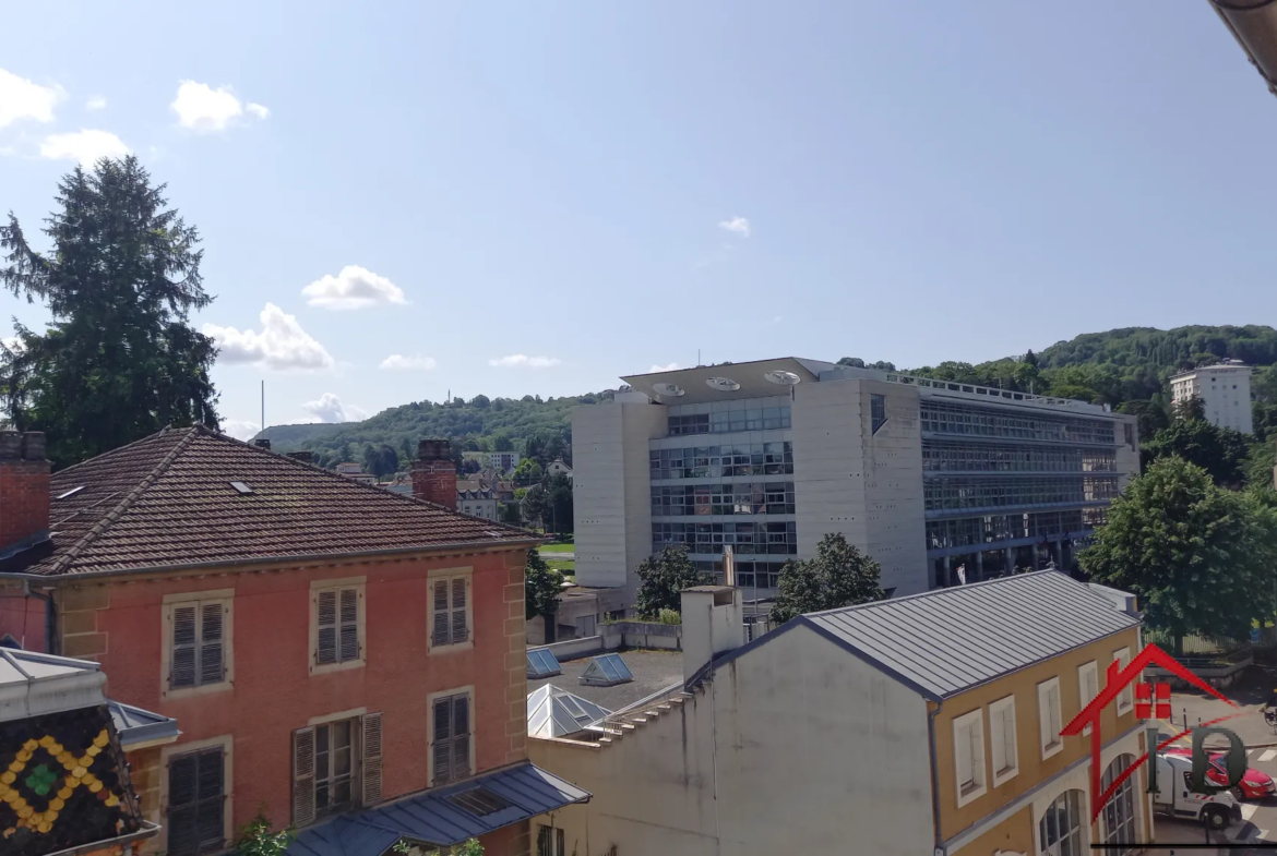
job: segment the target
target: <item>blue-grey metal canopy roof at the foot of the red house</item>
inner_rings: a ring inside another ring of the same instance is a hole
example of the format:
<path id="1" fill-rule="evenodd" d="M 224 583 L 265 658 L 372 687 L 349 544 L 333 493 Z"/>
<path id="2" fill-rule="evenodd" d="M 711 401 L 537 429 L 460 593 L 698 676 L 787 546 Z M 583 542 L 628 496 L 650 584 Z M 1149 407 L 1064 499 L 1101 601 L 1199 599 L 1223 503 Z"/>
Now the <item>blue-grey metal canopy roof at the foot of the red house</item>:
<path id="1" fill-rule="evenodd" d="M 478 816 L 448 801 L 450 796 L 475 787 L 488 788 L 510 805 Z M 589 792 L 558 776 L 534 764 L 520 764 L 304 829 L 289 846 L 289 853 L 382 856 L 401 838 L 447 847 L 589 800 Z"/>

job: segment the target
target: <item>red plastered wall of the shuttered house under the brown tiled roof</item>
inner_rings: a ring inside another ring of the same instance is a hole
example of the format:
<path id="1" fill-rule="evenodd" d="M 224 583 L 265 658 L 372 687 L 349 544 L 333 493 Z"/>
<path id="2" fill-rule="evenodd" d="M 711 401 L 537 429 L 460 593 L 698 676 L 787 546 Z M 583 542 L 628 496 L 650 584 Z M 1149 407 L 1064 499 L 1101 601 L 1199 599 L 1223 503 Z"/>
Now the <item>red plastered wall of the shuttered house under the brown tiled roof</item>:
<path id="1" fill-rule="evenodd" d="M 245 566 L 231 574 L 60 588 L 55 597 L 61 653 L 101 662 L 112 699 L 176 718 L 183 734 L 179 742 L 165 748 L 169 751 L 230 735 L 232 829 L 248 823 L 263 805 L 276 824 L 286 825 L 291 815 L 291 735 L 312 718 L 383 713 L 384 799 L 429 785 L 430 693 L 474 688 L 479 771 L 527 756 L 525 555 L 516 550 L 405 556 L 262 568 L 255 573 Z M 474 644 L 428 654 L 428 573 L 460 568 L 472 569 Z M 352 577 L 366 579 L 366 663 L 312 675 L 310 583 Z M 234 589 L 232 680 L 211 691 L 165 698 L 163 598 L 216 589 Z M 4 630 L 13 629 L 0 628 Z M 156 806 L 147 804 L 144 788 L 139 791 L 143 810 L 152 813 Z"/>

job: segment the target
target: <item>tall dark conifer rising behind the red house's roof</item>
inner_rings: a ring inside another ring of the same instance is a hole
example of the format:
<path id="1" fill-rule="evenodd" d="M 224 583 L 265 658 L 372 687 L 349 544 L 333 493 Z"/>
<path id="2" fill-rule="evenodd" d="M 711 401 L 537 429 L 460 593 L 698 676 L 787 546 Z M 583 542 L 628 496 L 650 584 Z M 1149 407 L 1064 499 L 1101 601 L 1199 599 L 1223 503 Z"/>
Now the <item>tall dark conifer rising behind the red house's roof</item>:
<path id="1" fill-rule="evenodd" d="M 166 425 L 218 427 L 208 378 L 217 348 L 188 323 L 213 300 L 198 231 L 133 156 L 77 167 L 57 190 L 50 253 L 28 244 L 13 213 L 0 226 L 0 284 L 52 316 L 42 334 L 15 324 L 18 344 L 0 355 L 14 427 L 47 432 L 57 466 Z"/>

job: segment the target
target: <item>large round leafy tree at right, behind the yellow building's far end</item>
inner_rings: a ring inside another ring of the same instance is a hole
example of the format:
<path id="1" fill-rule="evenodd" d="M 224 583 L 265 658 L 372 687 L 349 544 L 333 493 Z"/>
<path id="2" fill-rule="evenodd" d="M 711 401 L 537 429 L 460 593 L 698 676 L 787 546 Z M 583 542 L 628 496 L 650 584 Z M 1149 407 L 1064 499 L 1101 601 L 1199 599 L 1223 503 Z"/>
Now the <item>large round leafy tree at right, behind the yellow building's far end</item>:
<path id="1" fill-rule="evenodd" d="M 1272 616 L 1274 535 L 1274 512 L 1255 496 L 1167 457 L 1114 501 L 1078 560 L 1094 582 L 1135 593 L 1145 624 L 1180 653 L 1185 635 L 1243 639 Z"/>

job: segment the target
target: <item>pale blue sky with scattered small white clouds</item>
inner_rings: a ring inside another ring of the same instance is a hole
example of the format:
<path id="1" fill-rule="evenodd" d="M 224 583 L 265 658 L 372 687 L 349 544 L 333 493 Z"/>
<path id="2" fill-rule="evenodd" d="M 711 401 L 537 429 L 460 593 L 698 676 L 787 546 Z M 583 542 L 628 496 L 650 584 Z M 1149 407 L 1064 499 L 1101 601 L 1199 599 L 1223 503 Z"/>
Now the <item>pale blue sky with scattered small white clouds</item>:
<path id="1" fill-rule="evenodd" d="M 1277 101 L 1205 0 L 360 6 L 5 10 L 0 209 L 135 152 L 238 432 L 262 379 L 280 424 L 1277 320 Z"/>

